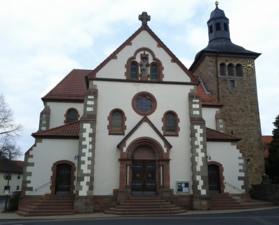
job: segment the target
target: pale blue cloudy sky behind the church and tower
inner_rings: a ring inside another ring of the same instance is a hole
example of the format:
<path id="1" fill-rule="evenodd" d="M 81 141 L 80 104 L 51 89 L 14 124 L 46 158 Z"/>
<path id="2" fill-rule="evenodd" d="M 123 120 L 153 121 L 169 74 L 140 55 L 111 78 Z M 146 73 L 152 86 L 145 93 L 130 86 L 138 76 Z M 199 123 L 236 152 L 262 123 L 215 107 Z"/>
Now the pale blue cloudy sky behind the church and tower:
<path id="1" fill-rule="evenodd" d="M 234 44 L 256 60 L 263 135 L 279 114 L 279 1 L 220 0 Z M 208 44 L 214 0 L 0 0 L 0 94 L 24 127 L 25 153 L 39 126 L 41 97 L 72 69 L 94 69 L 151 16 L 149 27 L 189 68 Z M 23 157 L 21 157 L 23 159 Z"/>

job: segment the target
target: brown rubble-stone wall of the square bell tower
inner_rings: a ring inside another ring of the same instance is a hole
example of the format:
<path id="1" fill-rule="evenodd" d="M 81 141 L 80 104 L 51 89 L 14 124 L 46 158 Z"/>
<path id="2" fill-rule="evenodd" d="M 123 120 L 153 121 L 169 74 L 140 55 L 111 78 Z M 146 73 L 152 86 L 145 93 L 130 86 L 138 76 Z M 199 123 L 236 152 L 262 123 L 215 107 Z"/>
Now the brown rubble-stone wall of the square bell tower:
<path id="1" fill-rule="evenodd" d="M 246 157 L 248 182 L 249 185 L 253 185 L 261 182 L 261 175 L 264 174 L 264 157 L 256 74 L 255 69 L 246 71 L 243 68 L 246 60 L 254 63 L 252 57 L 206 54 L 192 72 L 202 78 L 207 90 L 224 105 L 220 109 L 219 117 L 226 120 L 225 133 L 242 139 L 237 147 Z M 221 63 L 226 64 L 226 76 L 220 76 Z M 227 73 L 227 66 L 230 63 L 234 65 L 234 76 L 228 76 Z M 235 74 L 237 64 L 242 65 L 242 77 Z M 235 87 L 230 87 L 230 81 L 234 81 Z"/>

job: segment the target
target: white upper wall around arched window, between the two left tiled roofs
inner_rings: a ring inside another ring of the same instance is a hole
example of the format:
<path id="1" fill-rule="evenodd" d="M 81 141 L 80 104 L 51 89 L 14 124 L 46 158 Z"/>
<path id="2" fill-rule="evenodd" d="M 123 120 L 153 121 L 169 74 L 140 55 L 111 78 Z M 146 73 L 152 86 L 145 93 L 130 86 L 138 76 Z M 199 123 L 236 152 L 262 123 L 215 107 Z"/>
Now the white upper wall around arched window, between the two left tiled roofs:
<path id="1" fill-rule="evenodd" d="M 47 102 L 47 106 L 50 107 L 49 128 L 65 125 L 65 114 L 70 108 L 75 108 L 80 117 L 83 115 L 83 103 Z"/>

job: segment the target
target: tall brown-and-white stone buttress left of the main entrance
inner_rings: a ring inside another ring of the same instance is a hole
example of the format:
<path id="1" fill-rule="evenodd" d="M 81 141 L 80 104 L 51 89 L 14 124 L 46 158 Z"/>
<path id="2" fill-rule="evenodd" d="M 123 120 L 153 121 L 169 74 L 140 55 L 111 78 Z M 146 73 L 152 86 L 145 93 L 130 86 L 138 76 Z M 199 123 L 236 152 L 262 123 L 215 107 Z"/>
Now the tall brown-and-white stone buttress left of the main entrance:
<path id="1" fill-rule="evenodd" d="M 94 212 L 94 162 L 98 90 L 90 85 L 80 119 L 77 185 L 74 207 L 78 213 Z"/>

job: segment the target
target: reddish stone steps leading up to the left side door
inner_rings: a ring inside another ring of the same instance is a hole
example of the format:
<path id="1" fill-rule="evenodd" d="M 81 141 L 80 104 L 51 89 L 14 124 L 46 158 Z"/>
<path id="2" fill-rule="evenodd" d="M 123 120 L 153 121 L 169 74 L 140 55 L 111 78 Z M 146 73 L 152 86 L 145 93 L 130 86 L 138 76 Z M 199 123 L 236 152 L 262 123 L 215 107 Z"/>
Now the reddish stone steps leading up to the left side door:
<path id="1" fill-rule="evenodd" d="M 20 216 L 54 216 L 74 214 L 74 195 L 45 195 L 30 205 L 19 207 Z"/>

